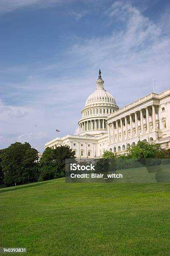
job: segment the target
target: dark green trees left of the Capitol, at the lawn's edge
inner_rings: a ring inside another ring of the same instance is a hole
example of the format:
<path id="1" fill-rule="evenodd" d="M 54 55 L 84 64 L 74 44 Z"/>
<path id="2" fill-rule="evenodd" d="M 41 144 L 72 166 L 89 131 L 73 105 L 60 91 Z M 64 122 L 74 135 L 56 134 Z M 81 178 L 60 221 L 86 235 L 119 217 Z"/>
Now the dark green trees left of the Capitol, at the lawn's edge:
<path id="1" fill-rule="evenodd" d="M 38 151 L 28 142 L 15 142 L 0 150 L 0 187 L 65 177 L 65 159 L 75 158 L 69 146 Z"/>

